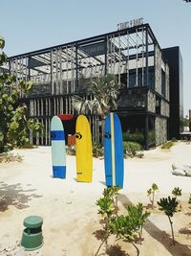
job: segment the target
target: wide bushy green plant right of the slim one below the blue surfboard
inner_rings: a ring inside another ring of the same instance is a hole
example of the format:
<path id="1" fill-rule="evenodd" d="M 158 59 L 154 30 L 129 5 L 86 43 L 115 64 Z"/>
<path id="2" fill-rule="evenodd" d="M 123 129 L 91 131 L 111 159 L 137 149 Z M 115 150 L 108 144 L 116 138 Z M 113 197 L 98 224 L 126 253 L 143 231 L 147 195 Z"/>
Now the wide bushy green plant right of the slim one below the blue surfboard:
<path id="1" fill-rule="evenodd" d="M 150 213 L 143 211 L 142 203 L 137 206 L 128 205 L 126 207 L 127 215 L 113 216 L 110 222 L 111 233 L 117 236 L 117 239 L 125 239 L 137 249 L 139 255 L 137 241 L 141 244 L 142 226 L 149 217 Z"/>

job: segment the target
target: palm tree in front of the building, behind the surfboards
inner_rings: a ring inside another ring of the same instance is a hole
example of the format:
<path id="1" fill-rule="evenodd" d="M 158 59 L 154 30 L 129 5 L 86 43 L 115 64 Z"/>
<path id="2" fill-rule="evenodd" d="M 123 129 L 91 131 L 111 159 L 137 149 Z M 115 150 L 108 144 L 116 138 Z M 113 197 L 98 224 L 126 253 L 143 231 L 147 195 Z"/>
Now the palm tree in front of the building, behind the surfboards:
<path id="1" fill-rule="evenodd" d="M 104 138 L 104 120 L 106 115 L 117 109 L 117 96 L 119 84 L 115 75 L 108 74 L 92 81 L 88 88 L 87 95 L 92 95 L 92 100 L 74 96 L 74 109 L 78 113 L 98 114 L 101 119 L 102 143 Z"/>

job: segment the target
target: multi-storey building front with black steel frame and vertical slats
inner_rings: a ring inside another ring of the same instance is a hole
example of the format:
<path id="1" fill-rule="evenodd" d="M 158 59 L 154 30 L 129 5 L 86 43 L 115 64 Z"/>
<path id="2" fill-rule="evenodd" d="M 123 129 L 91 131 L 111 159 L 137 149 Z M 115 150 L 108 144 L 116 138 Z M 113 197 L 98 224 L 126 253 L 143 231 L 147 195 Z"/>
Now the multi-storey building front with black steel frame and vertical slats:
<path id="1" fill-rule="evenodd" d="M 17 80 L 32 80 L 32 94 L 21 92 L 29 105 L 29 116 L 44 125 L 36 138 L 50 145 L 50 122 L 56 114 L 76 114 L 73 96 L 84 99 L 91 82 L 115 74 L 120 85 L 117 101 L 123 132 L 140 131 L 145 149 L 150 134 L 156 145 L 167 140 L 169 119 L 169 65 L 149 24 L 117 30 L 9 58 L 6 72 Z M 100 118 L 89 116 L 93 140 L 100 139 Z"/>

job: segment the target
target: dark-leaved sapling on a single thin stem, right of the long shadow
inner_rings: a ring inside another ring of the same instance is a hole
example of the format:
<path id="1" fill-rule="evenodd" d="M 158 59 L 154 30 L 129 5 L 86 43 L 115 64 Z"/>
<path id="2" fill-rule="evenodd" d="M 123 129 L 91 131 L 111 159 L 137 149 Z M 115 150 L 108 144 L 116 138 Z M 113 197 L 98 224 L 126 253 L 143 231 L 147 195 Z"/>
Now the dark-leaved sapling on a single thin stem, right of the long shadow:
<path id="1" fill-rule="evenodd" d="M 168 220 L 171 226 L 173 244 L 175 245 L 173 221 L 171 220 L 171 218 L 177 212 L 177 206 L 179 205 L 179 201 L 177 200 L 177 198 L 171 198 L 171 197 L 160 198 L 160 200 L 158 201 L 158 204 L 160 207 L 159 210 L 163 211 L 165 215 L 168 217 Z"/>

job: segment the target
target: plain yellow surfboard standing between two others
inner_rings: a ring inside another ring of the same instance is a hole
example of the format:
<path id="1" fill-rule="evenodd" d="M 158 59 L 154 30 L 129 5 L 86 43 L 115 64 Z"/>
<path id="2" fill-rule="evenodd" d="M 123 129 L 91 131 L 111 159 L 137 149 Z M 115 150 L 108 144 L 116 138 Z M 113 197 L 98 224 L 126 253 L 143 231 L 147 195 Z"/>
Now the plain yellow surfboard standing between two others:
<path id="1" fill-rule="evenodd" d="M 92 135 L 88 119 L 79 115 L 75 125 L 76 136 L 76 180 L 92 182 L 93 150 Z"/>

